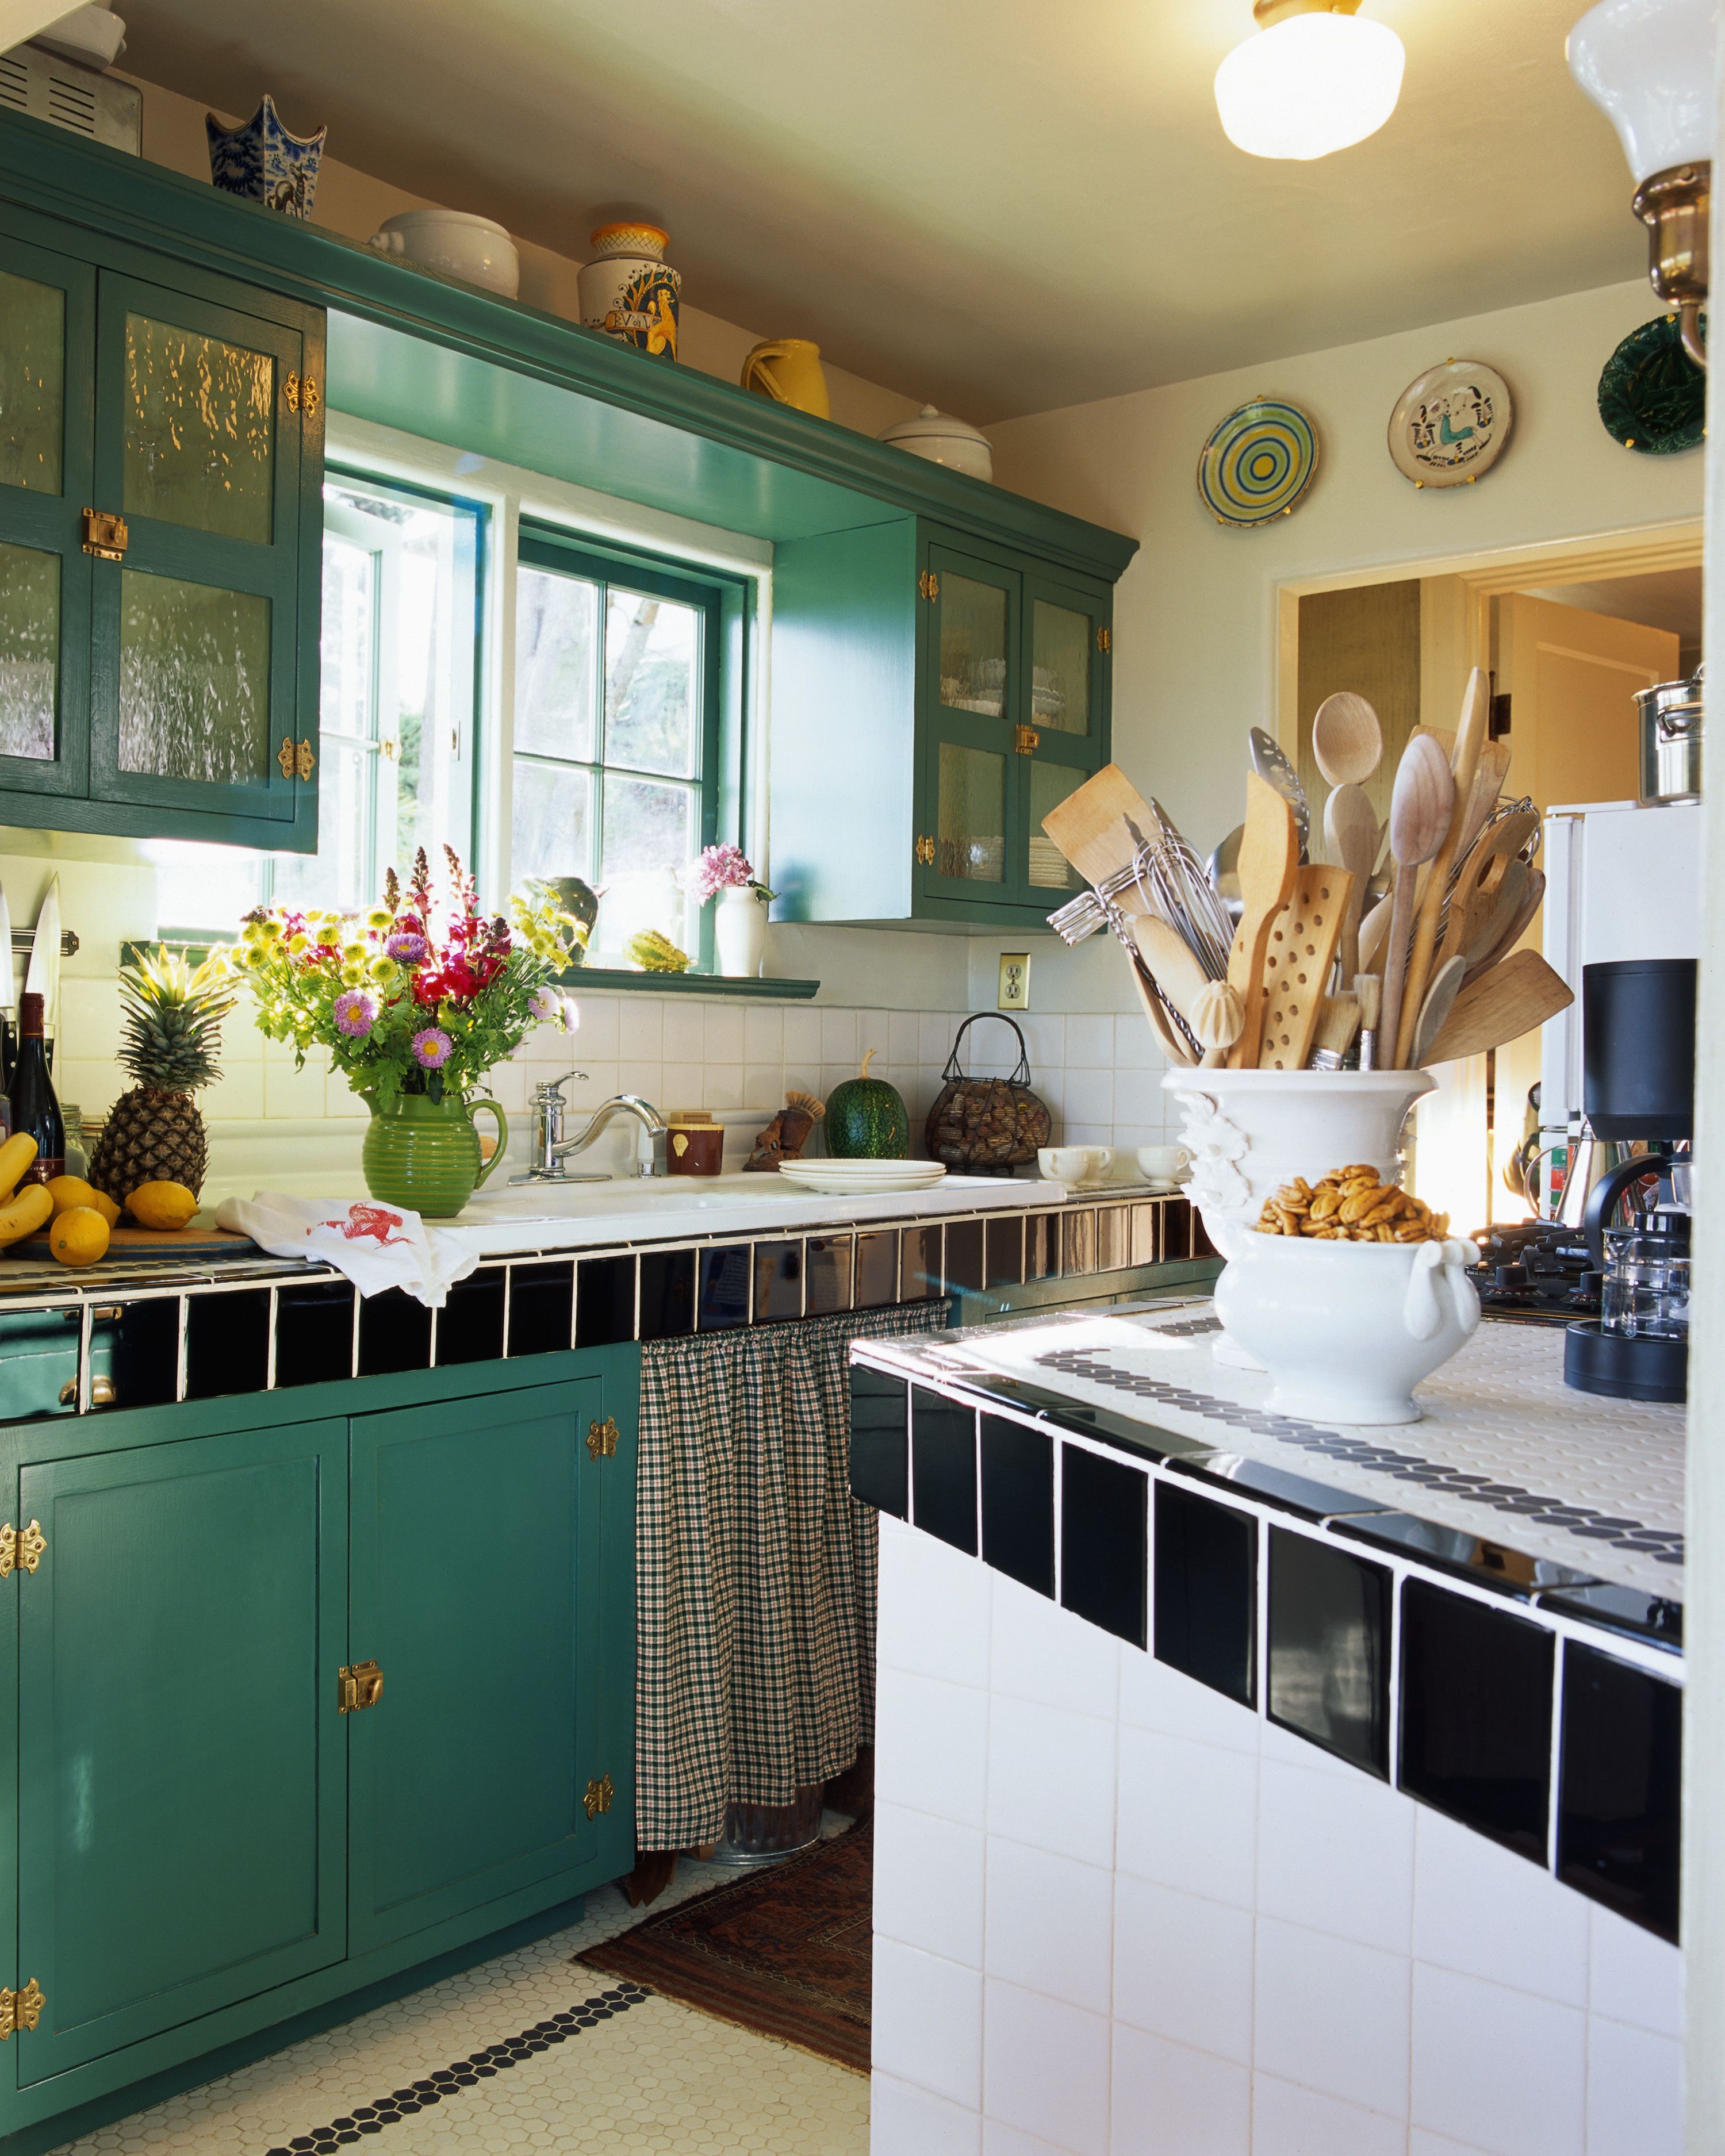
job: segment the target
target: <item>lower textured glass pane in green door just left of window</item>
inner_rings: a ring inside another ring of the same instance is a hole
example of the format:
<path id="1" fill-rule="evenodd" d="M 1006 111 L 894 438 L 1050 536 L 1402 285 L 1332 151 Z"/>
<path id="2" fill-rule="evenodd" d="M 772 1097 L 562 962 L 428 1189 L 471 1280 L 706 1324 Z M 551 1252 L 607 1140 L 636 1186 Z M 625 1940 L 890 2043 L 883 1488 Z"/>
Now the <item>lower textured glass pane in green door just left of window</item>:
<path id="1" fill-rule="evenodd" d="M 270 602 L 121 571 L 121 770 L 270 778 Z"/>

